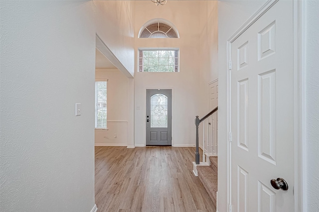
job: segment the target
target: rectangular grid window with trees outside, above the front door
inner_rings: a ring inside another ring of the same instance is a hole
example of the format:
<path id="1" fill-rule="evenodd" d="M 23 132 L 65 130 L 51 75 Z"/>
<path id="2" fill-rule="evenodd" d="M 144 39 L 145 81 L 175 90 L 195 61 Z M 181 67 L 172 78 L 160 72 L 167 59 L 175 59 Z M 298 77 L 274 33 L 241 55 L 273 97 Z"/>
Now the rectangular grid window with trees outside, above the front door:
<path id="1" fill-rule="evenodd" d="M 178 50 L 139 50 L 139 72 L 178 72 Z"/>

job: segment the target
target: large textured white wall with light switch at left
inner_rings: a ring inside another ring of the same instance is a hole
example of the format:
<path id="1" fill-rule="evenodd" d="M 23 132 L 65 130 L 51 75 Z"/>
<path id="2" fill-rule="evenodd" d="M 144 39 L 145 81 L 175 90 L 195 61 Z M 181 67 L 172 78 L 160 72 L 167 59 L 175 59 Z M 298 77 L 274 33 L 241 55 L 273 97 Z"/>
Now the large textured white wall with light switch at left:
<path id="1" fill-rule="evenodd" d="M 91 6 L 1 0 L 1 212 L 94 206 Z M 75 103 L 82 104 L 81 116 Z"/>

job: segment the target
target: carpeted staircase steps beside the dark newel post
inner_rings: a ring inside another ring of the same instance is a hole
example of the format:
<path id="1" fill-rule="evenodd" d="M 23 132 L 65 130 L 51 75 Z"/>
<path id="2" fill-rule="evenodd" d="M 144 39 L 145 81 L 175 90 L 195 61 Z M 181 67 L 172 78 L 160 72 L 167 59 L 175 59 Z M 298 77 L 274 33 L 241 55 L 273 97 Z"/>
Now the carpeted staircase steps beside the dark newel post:
<path id="1" fill-rule="evenodd" d="M 210 166 L 197 166 L 198 177 L 205 187 L 210 199 L 214 204 L 216 210 L 216 192 L 217 192 L 217 176 L 218 166 L 217 156 L 210 156 Z"/>

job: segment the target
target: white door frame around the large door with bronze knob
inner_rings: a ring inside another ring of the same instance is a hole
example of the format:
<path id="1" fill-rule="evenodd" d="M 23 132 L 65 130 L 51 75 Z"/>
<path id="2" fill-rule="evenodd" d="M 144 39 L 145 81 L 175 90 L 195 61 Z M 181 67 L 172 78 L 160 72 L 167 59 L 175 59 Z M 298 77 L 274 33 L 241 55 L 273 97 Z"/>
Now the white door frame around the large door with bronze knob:
<path id="1" fill-rule="evenodd" d="M 226 46 L 227 61 L 227 133 L 231 132 L 230 116 L 230 69 L 231 43 L 246 31 L 257 19 L 259 19 L 278 0 L 268 0 L 255 14 L 253 14 L 228 40 Z M 305 2 L 292 0 L 293 2 L 293 71 L 294 71 L 294 202 L 295 212 L 306 212 L 306 145 L 305 141 Z M 229 137 L 229 136 L 228 136 Z M 230 139 L 227 142 L 227 208 L 230 211 L 231 201 L 231 148 Z M 217 208 L 218 210 L 218 208 Z"/>

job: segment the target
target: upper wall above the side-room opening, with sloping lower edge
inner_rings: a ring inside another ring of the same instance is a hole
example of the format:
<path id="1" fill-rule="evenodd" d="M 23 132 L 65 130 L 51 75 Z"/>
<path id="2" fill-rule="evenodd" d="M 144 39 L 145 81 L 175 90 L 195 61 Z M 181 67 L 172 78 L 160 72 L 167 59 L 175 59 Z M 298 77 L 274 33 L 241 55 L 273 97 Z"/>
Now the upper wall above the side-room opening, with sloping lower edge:
<path id="1" fill-rule="evenodd" d="M 134 0 L 95 0 L 97 35 L 134 76 Z M 111 61 L 113 62 L 113 61 Z M 118 67 L 120 68 L 120 67 Z"/>

